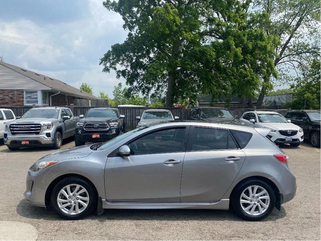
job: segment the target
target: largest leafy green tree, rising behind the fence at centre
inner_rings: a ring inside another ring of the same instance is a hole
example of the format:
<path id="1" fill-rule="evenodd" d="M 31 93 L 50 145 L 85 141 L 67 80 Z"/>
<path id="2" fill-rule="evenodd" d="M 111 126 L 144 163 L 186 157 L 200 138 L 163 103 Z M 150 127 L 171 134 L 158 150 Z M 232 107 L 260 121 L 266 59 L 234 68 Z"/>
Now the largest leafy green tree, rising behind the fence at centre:
<path id="1" fill-rule="evenodd" d="M 271 57 L 278 37 L 253 29 L 250 2 L 105 1 L 128 30 L 100 64 L 126 79 L 128 92 L 166 97 L 166 106 L 191 104 L 197 94 L 254 96 L 260 79 L 276 76 Z"/>

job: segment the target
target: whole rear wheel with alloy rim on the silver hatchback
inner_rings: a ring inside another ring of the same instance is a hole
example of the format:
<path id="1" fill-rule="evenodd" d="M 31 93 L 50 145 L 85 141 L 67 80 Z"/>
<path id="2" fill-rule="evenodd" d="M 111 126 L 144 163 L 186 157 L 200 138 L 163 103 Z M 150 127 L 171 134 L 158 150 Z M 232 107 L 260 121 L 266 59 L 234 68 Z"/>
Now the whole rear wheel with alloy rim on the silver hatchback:
<path id="1" fill-rule="evenodd" d="M 252 194 L 259 194 L 258 196 Z M 232 206 L 236 214 L 249 221 L 267 217 L 275 207 L 275 192 L 260 179 L 248 179 L 236 186 L 232 194 Z"/>

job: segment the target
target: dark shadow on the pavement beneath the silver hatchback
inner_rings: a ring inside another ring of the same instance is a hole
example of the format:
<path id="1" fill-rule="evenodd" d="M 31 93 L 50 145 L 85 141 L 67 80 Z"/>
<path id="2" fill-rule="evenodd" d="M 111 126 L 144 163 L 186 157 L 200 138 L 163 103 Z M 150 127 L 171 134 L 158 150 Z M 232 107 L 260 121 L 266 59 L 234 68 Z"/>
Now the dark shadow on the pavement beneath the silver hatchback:
<path id="1" fill-rule="evenodd" d="M 63 220 L 58 217 L 52 207 L 32 206 L 27 199 L 22 199 L 19 202 L 17 213 L 31 219 Z M 275 208 L 267 218 L 261 221 L 274 221 L 285 216 L 286 211 L 283 207 L 281 207 L 281 211 Z M 96 215 L 93 212 L 84 218 L 84 220 L 86 219 L 100 222 L 105 222 L 106 220 L 245 221 L 239 218 L 232 209 L 228 211 L 212 209 L 105 209 L 103 214 Z"/>

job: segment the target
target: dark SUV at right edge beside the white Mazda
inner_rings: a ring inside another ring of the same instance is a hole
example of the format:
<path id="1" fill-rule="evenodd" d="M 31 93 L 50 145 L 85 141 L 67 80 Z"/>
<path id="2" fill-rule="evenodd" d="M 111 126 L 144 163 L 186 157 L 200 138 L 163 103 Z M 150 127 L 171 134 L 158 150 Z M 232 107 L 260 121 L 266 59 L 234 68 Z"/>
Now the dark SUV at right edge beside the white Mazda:
<path id="1" fill-rule="evenodd" d="M 312 147 L 320 146 L 320 110 L 291 110 L 285 118 L 303 129 L 304 138 Z"/>

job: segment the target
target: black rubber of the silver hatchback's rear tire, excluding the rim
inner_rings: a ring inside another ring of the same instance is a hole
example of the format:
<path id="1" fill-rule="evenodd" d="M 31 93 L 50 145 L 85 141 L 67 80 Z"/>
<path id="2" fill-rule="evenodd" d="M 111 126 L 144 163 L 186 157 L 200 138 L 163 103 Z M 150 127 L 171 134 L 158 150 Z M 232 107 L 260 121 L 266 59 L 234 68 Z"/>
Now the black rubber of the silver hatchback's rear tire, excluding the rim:
<path id="1" fill-rule="evenodd" d="M 263 187 L 269 194 L 270 196 L 270 204 L 269 207 L 267 208 L 267 210 L 257 216 L 254 215 L 249 215 L 248 213 L 246 213 L 240 204 L 240 197 L 242 192 L 249 186 L 253 186 L 253 185 L 258 185 Z M 240 216 L 243 219 L 249 220 L 249 221 L 259 221 L 264 219 L 265 217 L 267 217 L 272 210 L 275 207 L 275 202 L 276 202 L 276 196 L 275 196 L 275 192 L 273 190 L 273 188 L 264 180 L 261 179 L 248 179 L 245 180 L 241 183 L 239 183 L 236 188 L 233 191 L 233 195 L 232 195 L 232 205 L 233 205 L 233 209 L 235 211 L 235 213 Z"/>

